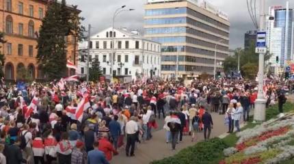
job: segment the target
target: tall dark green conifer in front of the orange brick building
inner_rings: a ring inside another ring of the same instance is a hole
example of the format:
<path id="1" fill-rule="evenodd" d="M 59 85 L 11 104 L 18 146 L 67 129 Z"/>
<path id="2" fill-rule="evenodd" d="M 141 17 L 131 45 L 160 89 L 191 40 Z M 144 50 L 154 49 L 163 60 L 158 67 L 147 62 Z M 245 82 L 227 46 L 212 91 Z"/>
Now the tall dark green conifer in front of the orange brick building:
<path id="1" fill-rule="evenodd" d="M 66 74 L 67 37 L 72 33 L 75 33 L 74 37 L 77 37 L 83 29 L 79 16 L 76 17 L 77 20 L 72 20 L 74 18 L 72 15 L 75 14 L 79 14 L 76 12 L 76 7 L 69 8 L 65 0 L 62 0 L 61 4 L 53 0 L 42 20 L 37 59 L 49 80 L 59 79 Z"/>

